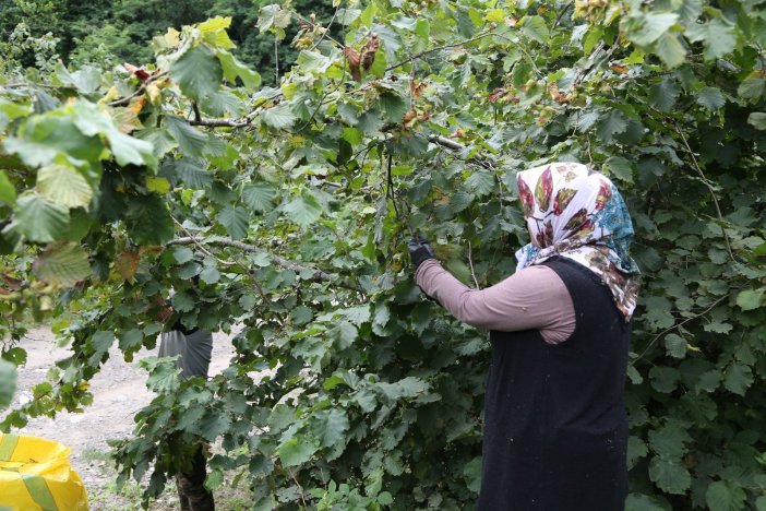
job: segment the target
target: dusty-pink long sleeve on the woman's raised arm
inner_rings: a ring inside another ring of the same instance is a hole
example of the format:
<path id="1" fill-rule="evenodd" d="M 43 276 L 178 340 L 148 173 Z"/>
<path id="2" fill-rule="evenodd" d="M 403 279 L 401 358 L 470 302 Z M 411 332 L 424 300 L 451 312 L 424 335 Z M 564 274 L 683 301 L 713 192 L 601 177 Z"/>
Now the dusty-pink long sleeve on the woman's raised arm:
<path id="1" fill-rule="evenodd" d="M 424 261 L 415 280 L 458 320 L 474 326 L 514 332 L 539 330 L 549 344 L 574 332 L 575 311 L 563 281 L 547 266 L 527 266 L 494 286 L 471 289 L 435 259 Z"/>

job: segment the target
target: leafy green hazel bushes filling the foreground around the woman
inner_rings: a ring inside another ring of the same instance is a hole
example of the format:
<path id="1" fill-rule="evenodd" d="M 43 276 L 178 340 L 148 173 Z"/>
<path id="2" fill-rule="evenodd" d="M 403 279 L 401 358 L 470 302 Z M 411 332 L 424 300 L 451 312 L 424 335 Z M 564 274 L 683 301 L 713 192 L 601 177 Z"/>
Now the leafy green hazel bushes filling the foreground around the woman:
<path id="1" fill-rule="evenodd" d="M 8 67 L 0 333 L 48 318 L 72 355 L 3 428 L 76 409 L 163 324 L 235 333 L 208 381 L 149 358 L 157 397 L 117 447 L 148 494 L 222 439 L 259 509 L 458 509 L 476 499 L 487 335 L 423 299 L 414 233 L 471 285 L 525 242 L 515 173 L 612 176 L 644 272 L 626 380 L 629 509 L 766 509 L 766 5 L 376 0 L 299 26 L 278 88 L 229 21 L 155 40 L 145 69 Z M 344 48 L 344 45 L 347 45 Z M 200 284 L 191 277 L 199 275 Z M 74 319 L 72 319 L 74 317 Z"/>

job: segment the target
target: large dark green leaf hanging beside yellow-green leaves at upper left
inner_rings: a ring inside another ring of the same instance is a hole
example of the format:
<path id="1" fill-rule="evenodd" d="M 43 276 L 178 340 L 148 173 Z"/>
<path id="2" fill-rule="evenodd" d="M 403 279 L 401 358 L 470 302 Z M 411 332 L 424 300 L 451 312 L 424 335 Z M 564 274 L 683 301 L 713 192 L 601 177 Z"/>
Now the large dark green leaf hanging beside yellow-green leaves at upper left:
<path id="1" fill-rule="evenodd" d="M 218 59 L 202 45 L 187 50 L 168 71 L 181 92 L 198 102 L 200 108 L 203 108 L 204 99 L 218 90 L 224 76 Z"/>

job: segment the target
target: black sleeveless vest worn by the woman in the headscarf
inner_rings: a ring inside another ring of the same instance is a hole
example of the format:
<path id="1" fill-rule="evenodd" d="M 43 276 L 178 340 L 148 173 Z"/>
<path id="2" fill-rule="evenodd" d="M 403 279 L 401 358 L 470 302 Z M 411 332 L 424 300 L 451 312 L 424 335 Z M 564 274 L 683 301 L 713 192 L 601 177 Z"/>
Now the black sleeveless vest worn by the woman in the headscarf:
<path id="1" fill-rule="evenodd" d="M 614 511 L 627 494 L 625 371 L 631 325 L 585 266 L 544 263 L 574 302 L 570 338 L 490 334 L 479 510 Z"/>

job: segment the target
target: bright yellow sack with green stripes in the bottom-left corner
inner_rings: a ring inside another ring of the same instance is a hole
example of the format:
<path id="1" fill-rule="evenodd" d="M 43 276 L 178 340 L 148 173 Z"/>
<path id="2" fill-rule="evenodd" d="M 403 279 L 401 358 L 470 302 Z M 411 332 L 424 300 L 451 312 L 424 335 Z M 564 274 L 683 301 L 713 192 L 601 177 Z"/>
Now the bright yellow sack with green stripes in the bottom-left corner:
<path id="1" fill-rule="evenodd" d="M 0 433 L 0 511 L 87 511 L 70 452 L 51 440 Z"/>

